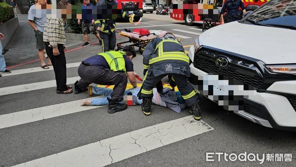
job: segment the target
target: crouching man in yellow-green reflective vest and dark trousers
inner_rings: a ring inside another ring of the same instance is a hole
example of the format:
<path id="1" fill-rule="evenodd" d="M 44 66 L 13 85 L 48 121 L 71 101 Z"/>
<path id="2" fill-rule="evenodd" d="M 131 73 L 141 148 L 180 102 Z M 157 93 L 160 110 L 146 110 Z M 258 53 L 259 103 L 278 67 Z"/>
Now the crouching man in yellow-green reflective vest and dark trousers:
<path id="1" fill-rule="evenodd" d="M 119 102 L 123 100 L 127 78 L 134 87 L 137 87 L 134 65 L 131 61 L 134 57 L 136 57 L 134 48 L 126 46 L 123 51 L 98 53 L 83 60 L 78 68 L 81 79 L 74 83 L 74 93 L 86 91 L 90 83 L 115 85 L 109 99 L 108 113 L 125 110 L 127 106 Z"/>

